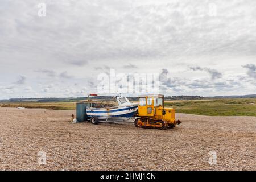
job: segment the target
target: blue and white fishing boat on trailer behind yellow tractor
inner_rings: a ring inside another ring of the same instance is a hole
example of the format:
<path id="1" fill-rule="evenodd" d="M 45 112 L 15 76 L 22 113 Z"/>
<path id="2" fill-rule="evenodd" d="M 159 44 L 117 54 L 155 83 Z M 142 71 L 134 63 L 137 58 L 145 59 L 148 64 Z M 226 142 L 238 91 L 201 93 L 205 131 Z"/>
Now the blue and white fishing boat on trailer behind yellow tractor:
<path id="1" fill-rule="evenodd" d="M 127 97 L 105 97 L 97 94 L 90 94 L 89 96 L 88 98 L 94 97 L 94 100 L 88 101 L 90 104 L 86 107 L 86 114 L 92 123 L 94 120 L 97 122 L 97 119 L 127 120 L 133 117 L 138 109 L 138 104 L 131 103 Z M 105 99 L 101 99 L 101 97 L 105 97 Z M 110 101 L 110 98 L 114 101 Z"/>

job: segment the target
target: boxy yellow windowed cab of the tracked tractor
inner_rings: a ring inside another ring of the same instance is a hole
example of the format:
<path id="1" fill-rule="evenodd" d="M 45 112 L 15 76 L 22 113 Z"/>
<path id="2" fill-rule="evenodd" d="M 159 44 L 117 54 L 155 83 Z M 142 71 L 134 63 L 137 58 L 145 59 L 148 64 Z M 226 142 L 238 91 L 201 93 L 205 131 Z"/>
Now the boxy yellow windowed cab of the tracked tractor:
<path id="1" fill-rule="evenodd" d="M 139 96 L 139 116 L 152 117 L 155 115 L 162 115 L 162 109 L 164 109 L 163 95 L 152 94 L 147 96 Z"/>

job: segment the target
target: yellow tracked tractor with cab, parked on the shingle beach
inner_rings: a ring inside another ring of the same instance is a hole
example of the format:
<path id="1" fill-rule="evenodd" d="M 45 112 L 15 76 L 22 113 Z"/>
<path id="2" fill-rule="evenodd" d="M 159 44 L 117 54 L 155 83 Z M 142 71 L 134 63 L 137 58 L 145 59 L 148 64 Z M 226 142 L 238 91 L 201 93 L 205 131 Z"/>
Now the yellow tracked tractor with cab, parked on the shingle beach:
<path id="1" fill-rule="evenodd" d="M 164 107 L 163 95 L 139 96 L 139 106 L 134 120 L 135 127 L 166 130 L 174 128 L 180 123 L 180 120 L 175 120 L 175 109 Z"/>

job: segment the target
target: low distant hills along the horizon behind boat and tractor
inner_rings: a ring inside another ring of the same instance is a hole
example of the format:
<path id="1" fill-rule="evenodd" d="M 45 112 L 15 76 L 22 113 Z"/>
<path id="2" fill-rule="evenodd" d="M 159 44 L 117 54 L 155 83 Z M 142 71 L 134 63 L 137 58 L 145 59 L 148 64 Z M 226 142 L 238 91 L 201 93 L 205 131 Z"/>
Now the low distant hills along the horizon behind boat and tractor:
<path id="1" fill-rule="evenodd" d="M 100 97 L 94 97 L 100 98 Z M 110 98 L 110 96 L 106 97 Z M 128 97 L 130 101 L 138 101 L 138 97 Z M 244 95 L 244 96 L 213 96 L 213 97 L 202 97 L 202 96 L 166 96 L 165 100 L 201 100 L 201 99 L 212 99 L 212 98 L 256 98 L 256 94 Z M 22 98 L 22 102 L 76 102 L 81 100 L 87 100 L 87 97 L 66 97 L 66 98 Z M 0 102 L 20 102 L 21 98 L 10 98 L 0 100 Z"/>

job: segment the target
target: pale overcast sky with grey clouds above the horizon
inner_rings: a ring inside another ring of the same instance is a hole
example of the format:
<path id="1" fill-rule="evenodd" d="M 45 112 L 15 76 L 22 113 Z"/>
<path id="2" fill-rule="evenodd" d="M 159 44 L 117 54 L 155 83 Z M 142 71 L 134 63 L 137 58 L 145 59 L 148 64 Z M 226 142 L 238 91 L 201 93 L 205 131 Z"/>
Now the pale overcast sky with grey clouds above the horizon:
<path id="1" fill-rule="evenodd" d="M 1 0 L 0 99 L 83 97 L 110 68 L 159 73 L 168 96 L 256 94 L 255 10 L 251 0 Z"/>

